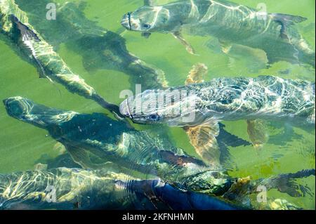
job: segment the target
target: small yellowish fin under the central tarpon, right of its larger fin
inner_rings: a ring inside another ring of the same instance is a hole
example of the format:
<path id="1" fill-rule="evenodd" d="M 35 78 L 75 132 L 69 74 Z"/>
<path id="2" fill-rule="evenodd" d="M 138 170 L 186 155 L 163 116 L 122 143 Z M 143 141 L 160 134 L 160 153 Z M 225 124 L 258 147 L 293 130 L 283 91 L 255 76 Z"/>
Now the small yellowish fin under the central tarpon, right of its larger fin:
<path id="1" fill-rule="evenodd" d="M 268 142 L 267 125 L 261 119 L 247 120 L 247 132 L 255 148 L 261 148 Z"/>

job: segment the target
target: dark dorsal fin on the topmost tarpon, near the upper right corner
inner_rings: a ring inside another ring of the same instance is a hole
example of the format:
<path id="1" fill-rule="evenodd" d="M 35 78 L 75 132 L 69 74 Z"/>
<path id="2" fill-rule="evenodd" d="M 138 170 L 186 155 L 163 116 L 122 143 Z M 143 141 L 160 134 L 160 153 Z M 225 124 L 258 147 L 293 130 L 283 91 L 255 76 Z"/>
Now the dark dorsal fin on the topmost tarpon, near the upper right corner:
<path id="1" fill-rule="evenodd" d="M 280 37 L 287 40 L 289 40 L 287 35 L 287 26 L 307 20 L 307 18 L 303 18 L 298 15 L 287 15 L 282 13 L 271 13 L 270 15 L 272 15 L 272 18 L 275 20 L 275 22 L 279 22 L 281 25 Z"/>

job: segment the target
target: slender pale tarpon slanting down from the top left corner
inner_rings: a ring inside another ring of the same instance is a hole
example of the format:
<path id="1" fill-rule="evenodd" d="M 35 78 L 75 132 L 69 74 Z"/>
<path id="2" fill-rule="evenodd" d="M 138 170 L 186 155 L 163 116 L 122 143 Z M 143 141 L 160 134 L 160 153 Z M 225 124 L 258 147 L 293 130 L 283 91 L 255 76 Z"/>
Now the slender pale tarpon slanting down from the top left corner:
<path id="1" fill-rule="evenodd" d="M 20 50 L 32 58 L 39 67 L 40 77 L 57 81 L 68 91 L 95 100 L 111 112 L 119 113 L 117 105 L 107 103 L 93 87 L 70 70 L 62 58 L 55 53 L 53 46 L 29 24 L 27 14 L 20 10 L 14 0 L 0 1 L 0 21 L 0 33 L 5 34 L 14 44 L 18 44 Z"/>

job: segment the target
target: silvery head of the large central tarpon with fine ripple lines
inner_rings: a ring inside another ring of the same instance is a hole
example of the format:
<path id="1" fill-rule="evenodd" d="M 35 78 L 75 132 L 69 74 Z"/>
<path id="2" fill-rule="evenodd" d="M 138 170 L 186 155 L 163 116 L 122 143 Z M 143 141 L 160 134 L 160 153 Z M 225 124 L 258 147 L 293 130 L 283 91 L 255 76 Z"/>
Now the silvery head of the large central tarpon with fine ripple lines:
<path id="1" fill-rule="evenodd" d="M 121 103 L 123 116 L 138 124 L 187 126 L 195 123 L 196 95 L 185 89 L 147 90 Z"/>

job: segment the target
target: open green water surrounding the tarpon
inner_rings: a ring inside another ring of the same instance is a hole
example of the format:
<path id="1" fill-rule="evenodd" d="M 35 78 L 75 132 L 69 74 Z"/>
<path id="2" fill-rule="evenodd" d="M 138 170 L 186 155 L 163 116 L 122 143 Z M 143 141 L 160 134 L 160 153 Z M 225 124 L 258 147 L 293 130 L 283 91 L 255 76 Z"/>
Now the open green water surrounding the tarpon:
<path id="1" fill-rule="evenodd" d="M 24 11 L 30 8 L 27 7 L 30 1 L 17 2 Z M 55 2 L 63 4 L 66 1 Z M 83 1 L 74 2 L 79 4 Z M 159 2 L 164 4 L 168 1 Z M 236 0 L 235 2 L 256 8 L 262 0 Z M 265 0 L 264 3 L 269 12 L 301 15 L 308 18 L 298 25 L 298 29 L 315 49 L 315 0 L 303 0 L 299 3 L 291 0 Z M 98 26 L 121 34 L 126 39 L 126 46 L 131 53 L 164 70 L 170 86 L 184 84 L 187 73 L 197 62 L 202 62 L 209 67 L 206 80 L 216 77 L 257 77 L 260 74 L 273 74 L 283 78 L 315 81 L 315 71 L 308 67 L 277 62 L 266 68 L 258 66 L 258 59 L 254 57 L 245 55 L 243 58 L 232 58 L 220 53 L 217 40 L 210 37 L 185 35 L 187 41 L 195 47 L 199 54 L 190 55 L 171 35 L 152 34 L 149 39 L 144 39 L 140 37 L 140 33 L 124 31 L 120 25 L 122 15 L 135 10 L 142 4 L 143 0 L 93 0 L 86 1 L 82 11 L 88 20 L 96 22 Z M 46 13 L 45 7 L 39 7 L 36 10 L 39 13 Z M 32 20 L 30 22 L 32 23 Z M 37 28 L 37 24 L 34 24 L 34 27 Z M 46 38 L 45 34 L 44 38 Z M 53 38 L 47 37 L 46 39 Z M 73 47 L 70 48 L 71 42 L 72 39 L 62 39 L 60 43 L 55 44 L 56 51 L 62 59 L 74 73 L 83 77 L 100 95 L 119 104 L 122 100 L 119 98 L 119 93 L 124 89 L 133 88 L 135 85 L 129 81 L 129 74 L 117 70 L 105 70 L 102 66 L 96 70 L 88 70 L 84 66 L 83 55 L 74 51 Z M 206 47 L 210 45 L 211 48 Z M 84 113 L 105 112 L 92 100 L 69 93 L 59 84 L 51 84 L 46 79 L 39 79 L 35 67 L 22 60 L 1 38 L 0 52 L 1 100 L 20 95 L 32 99 L 34 102 L 64 110 Z M 289 70 L 286 72 L 288 74 L 279 73 L 284 70 Z M 245 121 L 223 123 L 226 131 L 249 140 Z M 46 136 L 47 131 L 8 117 L 3 105 L 0 105 L 0 124 L 0 173 L 34 169 L 34 164 L 41 162 L 43 157 L 53 159 L 58 155 L 58 151 L 53 150 L 56 142 L 53 138 Z M 170 130 L 171 138 L 178 147 L 182 147 L 190 154 L 195 153 L 182 129 L 172 128 Z M 271 138 L 282 133 L 283 130 L 282 126 L 278 128 L 270 126 Z M 232 159 L 238 167 L 230 174 L 237 177 L 265 178 L 278 173 L 315 169 L 315 130 L 308 132 L 294 128 L 294 136 L 299 136 L 299 138 L 289 138 L 283 144 L 277 144 L 277 141 L 282 141 L 282 138 L 289 136 L 280 136 L 279 139 L 275 137 L 274 143 L 265 144 L 261 150 L 256 150 L 252 146 L 230 147 Z M 268 192 L 268 197 L 284 198 L 304 209 L 315 209 L 315 177 L 305 178 L 301 180 L 301 183 L 310 187 L 314 193 L 312 197 L 294 198 L 275 190 Z"/>

